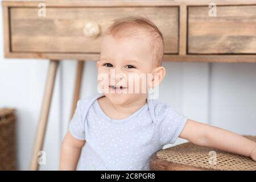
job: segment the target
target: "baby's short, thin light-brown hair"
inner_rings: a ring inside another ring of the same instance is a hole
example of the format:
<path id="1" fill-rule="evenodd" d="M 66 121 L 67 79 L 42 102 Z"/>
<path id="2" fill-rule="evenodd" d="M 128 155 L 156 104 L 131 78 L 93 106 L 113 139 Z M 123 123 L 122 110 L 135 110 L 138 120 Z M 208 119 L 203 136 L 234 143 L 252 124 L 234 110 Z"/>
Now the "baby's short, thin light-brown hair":
<path id="1" fill-rule="evenodd" d="M 141 33 L 145 32 L 154 50 L 155 65 L 160 66 L 162 65 L 164 54 L 163 35 L 150 19 L 143 16 L 128 16 L 125 18 L 114 19 L 114 23 L 108 28 L 105 34 L 112 35 L 114 38 L 141 38 Z"/>

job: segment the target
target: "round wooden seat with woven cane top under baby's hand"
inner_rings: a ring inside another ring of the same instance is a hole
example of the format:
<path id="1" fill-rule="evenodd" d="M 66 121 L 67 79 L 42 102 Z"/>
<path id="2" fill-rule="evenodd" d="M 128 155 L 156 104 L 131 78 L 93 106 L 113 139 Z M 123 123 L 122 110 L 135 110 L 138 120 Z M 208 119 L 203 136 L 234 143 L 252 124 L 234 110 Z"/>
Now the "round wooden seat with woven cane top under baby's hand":
<path id="1" fill-rule="evenodd" d="M 256 137 L 244 137 L 256 142 Z M 151 156 L 150 169 L 256 171 L 256 162 L 249 157 L 187 142 L 156 152 Z"/>

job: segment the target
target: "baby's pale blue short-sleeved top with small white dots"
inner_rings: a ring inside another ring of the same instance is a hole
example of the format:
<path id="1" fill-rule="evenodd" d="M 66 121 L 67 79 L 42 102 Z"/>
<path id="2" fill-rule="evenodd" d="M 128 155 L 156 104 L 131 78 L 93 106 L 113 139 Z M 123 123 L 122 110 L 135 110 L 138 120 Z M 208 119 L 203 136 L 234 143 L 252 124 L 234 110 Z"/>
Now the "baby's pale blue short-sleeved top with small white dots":
<path id="1" fill-rule="evenodd" d="M 98 93 L 77 102 L 69 131 L 86 140 L 78 170 L 150 170 L 150 157 L 165 144 L 175 143 L 187 117 L 159 100 L 148 100 L 125 119 L 102 111 Z"/>

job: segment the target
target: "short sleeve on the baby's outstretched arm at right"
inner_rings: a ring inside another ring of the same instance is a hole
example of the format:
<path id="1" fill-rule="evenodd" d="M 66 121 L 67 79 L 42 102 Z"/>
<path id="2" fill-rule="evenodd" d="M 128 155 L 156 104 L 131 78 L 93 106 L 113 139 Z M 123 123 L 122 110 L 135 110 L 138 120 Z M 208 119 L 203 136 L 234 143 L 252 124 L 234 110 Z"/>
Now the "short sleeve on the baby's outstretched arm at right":
<path id="1" fill-rule="evenodd" d="M 174 144 L 183 130 L 185 123 L 187 123 L 187 119 L 187 117 L 165 104 L 158 114 L 157 128 L 160 144 Z"/>

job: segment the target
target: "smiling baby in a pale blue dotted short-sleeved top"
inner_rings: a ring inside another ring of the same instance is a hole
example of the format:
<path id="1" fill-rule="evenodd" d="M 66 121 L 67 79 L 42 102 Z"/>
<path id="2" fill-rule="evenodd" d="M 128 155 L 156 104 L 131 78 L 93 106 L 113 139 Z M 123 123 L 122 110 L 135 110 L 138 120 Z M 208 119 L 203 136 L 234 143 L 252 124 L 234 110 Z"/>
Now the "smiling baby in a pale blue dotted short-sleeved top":
<path id="1" fill-rule="evenodd" d="M 151 155 L 178 137 L 256 161 L 255 142 L 188 119 L 157 99 L 166 75 L 163 50 L 162 33 L 147 18 L 117 19 L 108 28 L 97 61 L 100 93 L 77 102 L 61 170 L 149 170 Z"/>

